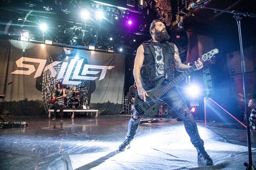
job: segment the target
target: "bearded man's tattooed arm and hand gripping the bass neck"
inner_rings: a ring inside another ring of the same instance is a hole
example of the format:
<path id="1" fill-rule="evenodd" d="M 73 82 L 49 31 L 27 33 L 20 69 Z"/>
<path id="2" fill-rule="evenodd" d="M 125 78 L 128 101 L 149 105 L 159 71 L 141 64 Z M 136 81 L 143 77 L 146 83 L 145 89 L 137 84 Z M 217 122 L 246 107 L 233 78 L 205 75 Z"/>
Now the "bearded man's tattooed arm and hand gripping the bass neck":
<path id="1" fill-rule="evenodd" d="M 177 71 L 183 72 L 185 71 L 187 68 L 190 68 L 191 66 L 183 64 L 180 60 L 180 56 L 179 56 L 179 51 L 176 45 L 174 45 L 174 50 L 175 50 L 175 54 L 174 54 L 174 65 Z M 195 68 L 196 70 L 200 70 L 201 68 L 203 68 L 203 63 L 200 61 L 200 58 L 198 58 L 197 61 L 195 61 Z"/>

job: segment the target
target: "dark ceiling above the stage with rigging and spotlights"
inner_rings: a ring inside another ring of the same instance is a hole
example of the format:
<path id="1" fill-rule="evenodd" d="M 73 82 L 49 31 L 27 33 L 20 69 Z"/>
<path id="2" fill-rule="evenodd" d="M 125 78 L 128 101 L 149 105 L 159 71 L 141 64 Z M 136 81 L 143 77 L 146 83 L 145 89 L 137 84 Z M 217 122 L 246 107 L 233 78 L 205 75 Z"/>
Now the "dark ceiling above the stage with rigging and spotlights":
<path id="1" fill-rule="evenodd" d="M 170 0 L 173 23 L 169 27 L 170 34 L 176 35 L 189 30 L 208 37 L 226 37 L 230 43 L 237 40 L 238 31 L 233 14 L 215 13 L 210 9 L 199 7 L 191 9 L 190 5 L 193 1 L 195 0 Z M 101 41 L 106 44 L 109 43 L 106 35 L 112 34 L 114 44 L 124 44 L 134 49 L 144 40 L 151 38 L 148 31 L 149 25 L 153 19 L 157 19 L 156 9 L 153 8 L 157 1 L 145 0 L 144 2 L 146 6 L 140 8 L 139 0 L 1 0 L 0 37 L 17 39 L 20 37 L 20 31 L 29 30 L 35 39 L 38 38 L 38 41 L 41 41 L 42 33 L 38 31 L 38 23 L 45 21 L 51 30 L 45 34 L 45 38 L 53 41 L 56 36 L 62 36 L 64 39 L 62 43 L 68 44 L 74 34 L 73 28 L 78 27 L 83 34 L 76 37 L 81 39 L 80 41 L 92 40 L 95 43 Z M 134 7 L 128 6 L 127 3 L 134 3 Z M 106 20 L 101 22 L 93 18 L 95 17 L 93 12 L 98 9 L 97 4 L 99 8 L 109 13 Z M 205 6 L 256 13 L 255 0 L 210 0 L 205 3 Z M 87 20 L 85 23 L 81 20 L 79 11 L 82 8 L 89 9 L 93 15 L 92 20 Z M 70 13 L 64 14 L 65 11 Z M 183 28 L 175 24 L 176 14 L 180 11 L 185 16 Z M 118 16 L 118 20 L 113 19 L 115 16 Z M 133 26 L 127 25 L 129 19 L 133 20 Z M 245 45 L 256 44 L 256 18 L 243 17 L 241 28 Z M 91 29 L 97 33 L 96 38 L 91 36 Z M 131 42 L 132 38 L 136 38 L 137 41 Z M 83 42 L 79 45 L 83 45 Z"/>

